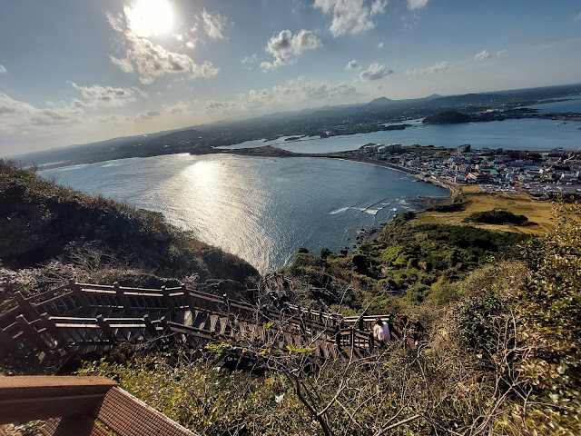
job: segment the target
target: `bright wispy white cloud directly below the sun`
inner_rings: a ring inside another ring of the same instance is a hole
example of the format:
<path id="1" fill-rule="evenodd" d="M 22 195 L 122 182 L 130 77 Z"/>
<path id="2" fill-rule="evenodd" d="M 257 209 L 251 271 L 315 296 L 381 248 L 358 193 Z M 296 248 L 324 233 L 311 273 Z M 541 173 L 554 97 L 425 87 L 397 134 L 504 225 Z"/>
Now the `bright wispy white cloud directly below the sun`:
<path id="1" fill-rule="evenodd" d="M 155 45 L 149 39 L 135 34 L 129 23 L 127 8 L 124 12 L 126 15 L 124 20 L 123 15 L 106 13 L 113 29 L 122 33 L 130 46 L 124 57 L 110 56 L 111 62 L 119 66 L 124 73 L 136 70 L 142 84 L 151 84 L 165 74 L 191 73 L 192 78 L 218 74 L 218 68 L 213 67 L 212 63 L 206 61 L 202 65 L 195 64 L 189 55 L 166 50 L 162 45 Z M 193 44 L 193 41 L 188 41 L 186 46 L 192 48 Z"/>

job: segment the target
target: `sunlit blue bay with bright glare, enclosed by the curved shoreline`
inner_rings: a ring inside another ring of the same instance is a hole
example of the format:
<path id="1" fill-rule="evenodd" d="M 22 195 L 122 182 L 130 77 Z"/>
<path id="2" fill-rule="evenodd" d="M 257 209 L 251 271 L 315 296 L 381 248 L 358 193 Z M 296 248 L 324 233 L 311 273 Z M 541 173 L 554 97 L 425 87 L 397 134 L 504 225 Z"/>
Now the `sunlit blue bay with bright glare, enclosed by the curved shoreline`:
<path id="1" fill-rule="evenodd" d="M 290 263 L 300 246 L 352 246 L 362 228 L 448 192 L 368 163 L 318 158 L 172 154 L 46 170 L 84 191 L 163 213 L 205 243 L 261 272 Z"/>

